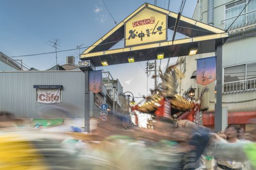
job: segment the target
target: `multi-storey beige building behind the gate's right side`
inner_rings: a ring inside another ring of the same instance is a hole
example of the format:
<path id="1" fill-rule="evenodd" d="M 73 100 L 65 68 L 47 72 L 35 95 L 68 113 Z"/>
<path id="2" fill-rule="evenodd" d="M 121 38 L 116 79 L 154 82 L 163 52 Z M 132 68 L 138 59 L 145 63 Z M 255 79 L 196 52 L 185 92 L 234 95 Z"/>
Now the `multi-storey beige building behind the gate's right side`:
<path id="1" fill-rule="evenodd" d="M 256 118 L 256 0 L 249 1 L 198 0 L 193 15 L 193 19 L 227 30 L 223 34 L 230 35 L 222 47 L 222 107 L 228 108 L 228 124 L 237 124 L 246 131 L 253 126 L 248 120 Z M 188 97 L 188 91 L 197 88 L 195 99 L 200 98 L 206 86 L 196 83 L 196 59 L 210 56 L 215 53 L 178 58 L 179 69 L 185 74 L 178 87 L 181 95 Z M 215 85 L 207 85 L 209 92 L 201 97 L 203 125 L 212 129 Z"/>

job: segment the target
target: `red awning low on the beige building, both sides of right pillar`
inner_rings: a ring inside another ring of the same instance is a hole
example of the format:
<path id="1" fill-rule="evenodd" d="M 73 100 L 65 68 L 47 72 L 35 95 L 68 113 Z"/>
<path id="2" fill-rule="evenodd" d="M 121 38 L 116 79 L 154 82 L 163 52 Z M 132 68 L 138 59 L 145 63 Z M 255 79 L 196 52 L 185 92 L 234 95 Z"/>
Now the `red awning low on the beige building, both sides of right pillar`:
<path id="1" fill-rule="evenodd" d="M 228 124 L 248 124 L 256 118 L 256 111 L 228 113 Z M 203 125 L 214 125 L 214 113 L 203 114 Z"/>

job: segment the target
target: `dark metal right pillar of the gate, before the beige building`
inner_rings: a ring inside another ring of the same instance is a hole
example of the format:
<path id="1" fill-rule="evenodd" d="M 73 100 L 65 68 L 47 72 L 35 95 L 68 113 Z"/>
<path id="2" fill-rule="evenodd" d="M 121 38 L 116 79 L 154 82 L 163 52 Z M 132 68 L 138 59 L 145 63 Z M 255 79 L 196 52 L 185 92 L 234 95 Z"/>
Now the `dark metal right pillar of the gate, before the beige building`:
<path id="1" fill-rule="evenodd" d="M 216 100 L 215 100 L 215 132 L 219 132 L 223 129 L 222 127 L 222 44 L 216 48 L 216 79 L 217 84 Z"/>

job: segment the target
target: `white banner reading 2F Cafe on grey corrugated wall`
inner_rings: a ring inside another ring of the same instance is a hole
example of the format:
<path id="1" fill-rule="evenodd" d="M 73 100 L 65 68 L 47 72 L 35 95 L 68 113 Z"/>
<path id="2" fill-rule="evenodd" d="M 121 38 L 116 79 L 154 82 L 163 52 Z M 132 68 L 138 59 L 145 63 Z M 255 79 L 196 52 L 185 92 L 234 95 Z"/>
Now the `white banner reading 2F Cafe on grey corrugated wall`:
<path id="1" fill-rule="evenodd" d="M 60 103 L 60 88 L 37 88 L 37 102 L 46 104 Z"/>

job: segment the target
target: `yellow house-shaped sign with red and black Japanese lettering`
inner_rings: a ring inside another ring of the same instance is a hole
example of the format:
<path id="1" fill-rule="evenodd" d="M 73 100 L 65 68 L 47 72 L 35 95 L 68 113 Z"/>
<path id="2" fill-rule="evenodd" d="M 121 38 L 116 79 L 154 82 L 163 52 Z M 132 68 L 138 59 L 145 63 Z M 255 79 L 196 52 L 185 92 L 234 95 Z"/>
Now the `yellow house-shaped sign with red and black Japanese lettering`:
<path id="1" fill-rule="evenodd" d="M 167 15 L 144 8 L 125 23 L 125 47 L 167 40 Z"/>

